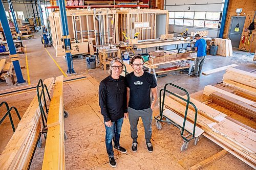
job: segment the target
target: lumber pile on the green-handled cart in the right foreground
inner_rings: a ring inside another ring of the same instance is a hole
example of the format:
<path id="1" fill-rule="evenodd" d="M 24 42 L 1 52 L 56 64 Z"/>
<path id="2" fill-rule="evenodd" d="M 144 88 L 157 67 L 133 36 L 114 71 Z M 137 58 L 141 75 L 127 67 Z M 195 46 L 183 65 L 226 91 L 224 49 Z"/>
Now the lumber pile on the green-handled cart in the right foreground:
<path id="1" fill-rule="evenodd" d="M 197 126 L 205 132 L 204 136 L 220 145 L 223 149 L 256 168 L 256 134 L 243 126 L 227 119 L 224 113 L 190 98 L 198 109 Z M 172 110 L 184 117 L 186 103 L 175 96 L 165 96 L 165 109 Z M 194 123 L 195 110 L 188 108 L 187 120 Z M 245 125 L 244 125 L 245 126 Z"/>

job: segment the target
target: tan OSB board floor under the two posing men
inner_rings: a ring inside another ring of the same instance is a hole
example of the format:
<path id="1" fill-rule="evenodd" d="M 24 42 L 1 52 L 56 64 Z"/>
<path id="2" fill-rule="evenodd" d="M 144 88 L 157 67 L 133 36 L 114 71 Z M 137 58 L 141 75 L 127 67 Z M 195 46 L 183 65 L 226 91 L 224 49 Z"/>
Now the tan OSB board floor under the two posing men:
<path id="1" fill-rule="evenodd" d="M 105 149 L 105 128 L 98 106 L 98 83 L 91 78 L 73 81 L 65 83 L 63 91 L 65 109 L 69 112 L 69 117 L 65 119 L 65 131 L 68 135 L 65 141 L 66 169 L 112 169 Z M 23 115 L 35 94 L 35 91 L 32 91 L 2 99 L 11 106 L 16 106 Z M 16 101 L 16 99 L 20 100 Z M 158 109 L 155 108 L 154 115 L 159 114 Z M 2 110 L 0 111 L 2 116 Z M 17 118 L 15 120 L 17 122 Z M 121 154 L 115 151 L 116 169 L 188 169 L 222 150 L 217 144 L 201 136 L 197 145 L 190 142 L 187 151 L 181 152 L 183 141 L 180 131 L 167 124 L 162 124 L 162 130 L 157 130 L 153 119 L 154 151 L 148 153 L 141 119 L 138 127 L 138 152 L 134 153 L 131 151 L 129 120 L 124 120 L 120 143 L 127 149 L 127 153 Z M 3 151 L 11 135 L 11 126 L 7 119 L 4 126 L 0 126 L 0 152 Z M 36 149 L 30 169 L 41 169 L 45 147 L 45 140 L 43 137 L 42 139 L 42 148 Z M 202 169 L 251 169 L 251 167 L 227 154 Z"/>

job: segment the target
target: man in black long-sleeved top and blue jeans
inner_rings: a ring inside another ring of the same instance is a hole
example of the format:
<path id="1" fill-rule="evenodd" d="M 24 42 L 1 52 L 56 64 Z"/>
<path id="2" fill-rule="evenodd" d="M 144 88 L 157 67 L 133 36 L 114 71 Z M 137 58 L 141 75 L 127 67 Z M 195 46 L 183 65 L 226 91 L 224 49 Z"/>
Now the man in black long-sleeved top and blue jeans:
<path id="1" fill-rule="evenodd" d="M 112 167 L 116 167 L 112 140 L 116 150 L 124 154 L 127 152 L 119 143 L 123 118 L 128 117 L 125 78 L 120 76 L 122 70 L 123 61 L 113 58 L 110 62 L 110 76 L 102 80 L 99 85 L 99 106 L 106 129 L 106 152 Z"/>

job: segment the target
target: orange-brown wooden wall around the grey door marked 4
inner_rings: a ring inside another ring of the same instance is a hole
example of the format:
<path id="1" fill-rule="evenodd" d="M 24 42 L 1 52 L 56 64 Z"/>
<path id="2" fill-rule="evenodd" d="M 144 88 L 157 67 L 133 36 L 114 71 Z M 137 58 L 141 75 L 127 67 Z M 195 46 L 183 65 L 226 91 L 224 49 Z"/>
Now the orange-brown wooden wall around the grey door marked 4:
<path id="1" fill-rule="evenodd" d="M 240 16 L 246 16 L 245 24 L 244 24 L 244 29 L 243 29 L 243 35 L 247 35 L 248 31 L 245 32 L 245 28 L 248 28 L 250 23 L 252 22 L 254 11 L 255 11 L 255 0 L 229 0 L 229 5 L 228 5 L 228 12 L 227 12 L 227 19 L 226 19 L 226 24 L 225 24 L 225 30 L 224 30 L 224 38 L 228 38 L 228 31 L 230 27 L 230 22 L 231 22 L 231 16 L 237 16 L 236 9 L 237 8 L 242 8 L 243 11 L 240 14 Z M 253 30 L 252 36 L 254 35 L 254 40 L 253 42 L 250 42 L 250 44 L 247 44 L 247 41 L 245 42 L 245 48 L 246 50 L 250 50 L 252 53 L 256 50 L 256 30 Z M 253 37 L 251 36 L 250 41 L 252 41 Z M 244 43 L 240 41 L 239 48 L 243 47 Z"/>

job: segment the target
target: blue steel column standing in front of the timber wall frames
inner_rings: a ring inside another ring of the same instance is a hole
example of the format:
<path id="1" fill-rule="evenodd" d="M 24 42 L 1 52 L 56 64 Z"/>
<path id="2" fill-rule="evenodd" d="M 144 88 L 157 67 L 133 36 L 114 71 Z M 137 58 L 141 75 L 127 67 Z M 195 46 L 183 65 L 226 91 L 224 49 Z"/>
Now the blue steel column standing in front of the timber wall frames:
<path id="1" fill-rule="evenodd" d="M 66 7 L 64 0 L 59 1 L 59 13 L 61 18 L 62 32 L 63 32 L 63 41 L 65 43 L 65 52 L 66 52 L 66 60 L 68 64 L 67 74 L 75 74 L 76 71 L 73 67 L 72 55 L 71 55 L 71 45 L 70 45 L 70 36 L 68 30 L 68 20 L 66 14 Z"/>

